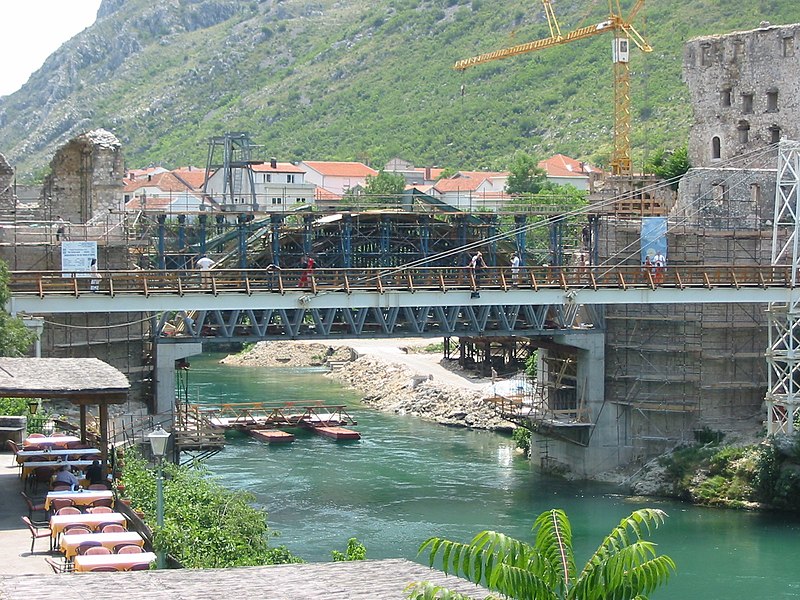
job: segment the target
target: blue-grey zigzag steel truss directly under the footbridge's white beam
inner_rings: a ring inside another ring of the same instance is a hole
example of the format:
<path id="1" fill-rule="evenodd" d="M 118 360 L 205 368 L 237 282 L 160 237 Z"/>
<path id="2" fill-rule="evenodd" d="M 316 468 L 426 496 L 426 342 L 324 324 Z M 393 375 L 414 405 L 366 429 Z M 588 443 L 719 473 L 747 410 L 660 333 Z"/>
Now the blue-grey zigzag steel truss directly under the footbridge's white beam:
<path id="1" fill-rule="evenodd" d="M 591 316 L 597 317 L 595 311 Z M 179 334 L 174 334 L 175 324 Z M 169 325 L 168 325 L 169 324 Z M 455 305 L 167 311 L 159 343 L 403 336 L 553 335 L 579 325 L 576 305 Z M 589 330 L 591 331 L 591 330 Z M 597 329 L 597 331 L 600 331 Z"/>

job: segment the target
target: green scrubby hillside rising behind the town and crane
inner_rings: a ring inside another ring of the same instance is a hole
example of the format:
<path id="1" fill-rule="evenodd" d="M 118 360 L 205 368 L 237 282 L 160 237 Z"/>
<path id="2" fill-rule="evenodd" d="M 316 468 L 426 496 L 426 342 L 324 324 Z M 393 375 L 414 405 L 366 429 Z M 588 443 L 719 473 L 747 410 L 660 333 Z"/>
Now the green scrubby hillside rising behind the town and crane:
<path id="1" fill-rule="evenodd" d="M 554 4 L 564 32 L 608 9 Z M 654 51 L 631 62 L 636 160 L 686 143 L 683 42 L 762 20 L 798 22 L 800 3 L 649 0 L 636 24 Z M 103 127 L 130 167 L 202 166 L 225 131 L 281 160 L 505 168 L 521 149 L 605 164 L 610 34 L 452 69 L 547 35 L 536 0 L 104 0 L 92 27 L 0 98 L 0 153 L 23 177 L 41 173 L 67 139 Z"/>

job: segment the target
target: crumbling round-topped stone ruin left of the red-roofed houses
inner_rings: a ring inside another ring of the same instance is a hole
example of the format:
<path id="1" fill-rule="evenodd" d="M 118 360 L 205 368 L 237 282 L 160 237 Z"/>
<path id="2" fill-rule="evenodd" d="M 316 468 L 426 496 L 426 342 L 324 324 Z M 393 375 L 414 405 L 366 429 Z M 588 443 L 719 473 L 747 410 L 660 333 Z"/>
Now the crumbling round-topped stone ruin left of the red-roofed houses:
<path id="1" fill-rule="evenodd" d="M 105 129 L 83 133 L 59 148 L 44 183 L 49 218 L 71 223 L 122 220 L 122 144 Z"/>

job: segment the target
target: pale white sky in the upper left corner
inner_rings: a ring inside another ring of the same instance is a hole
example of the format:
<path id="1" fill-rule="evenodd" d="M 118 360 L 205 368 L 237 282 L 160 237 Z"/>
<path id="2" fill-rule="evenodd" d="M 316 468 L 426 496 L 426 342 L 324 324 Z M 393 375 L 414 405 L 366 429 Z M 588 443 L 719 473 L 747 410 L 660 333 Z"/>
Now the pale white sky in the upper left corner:
<path id="1" fill-rule="evenodd" d="M 94 23 L 101 0 L 2 0 L 0 96 L 16 92 L 61 44 Z"/>

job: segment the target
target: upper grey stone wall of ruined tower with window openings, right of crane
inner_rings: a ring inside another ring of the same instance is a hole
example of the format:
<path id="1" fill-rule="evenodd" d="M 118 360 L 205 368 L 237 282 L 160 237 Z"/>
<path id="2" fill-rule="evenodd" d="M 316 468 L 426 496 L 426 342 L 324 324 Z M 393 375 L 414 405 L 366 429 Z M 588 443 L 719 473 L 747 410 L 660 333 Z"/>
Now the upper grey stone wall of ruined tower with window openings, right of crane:
<path id="1" fill-rule="evenodd" d="M 784 136 L 800 139 L 800 24 L 690 40 L 683 71 L 694 110 L 693 166 L 759 153 Z M 747 157 L 743 166 L 771 166 L 774 156 Z"/>

